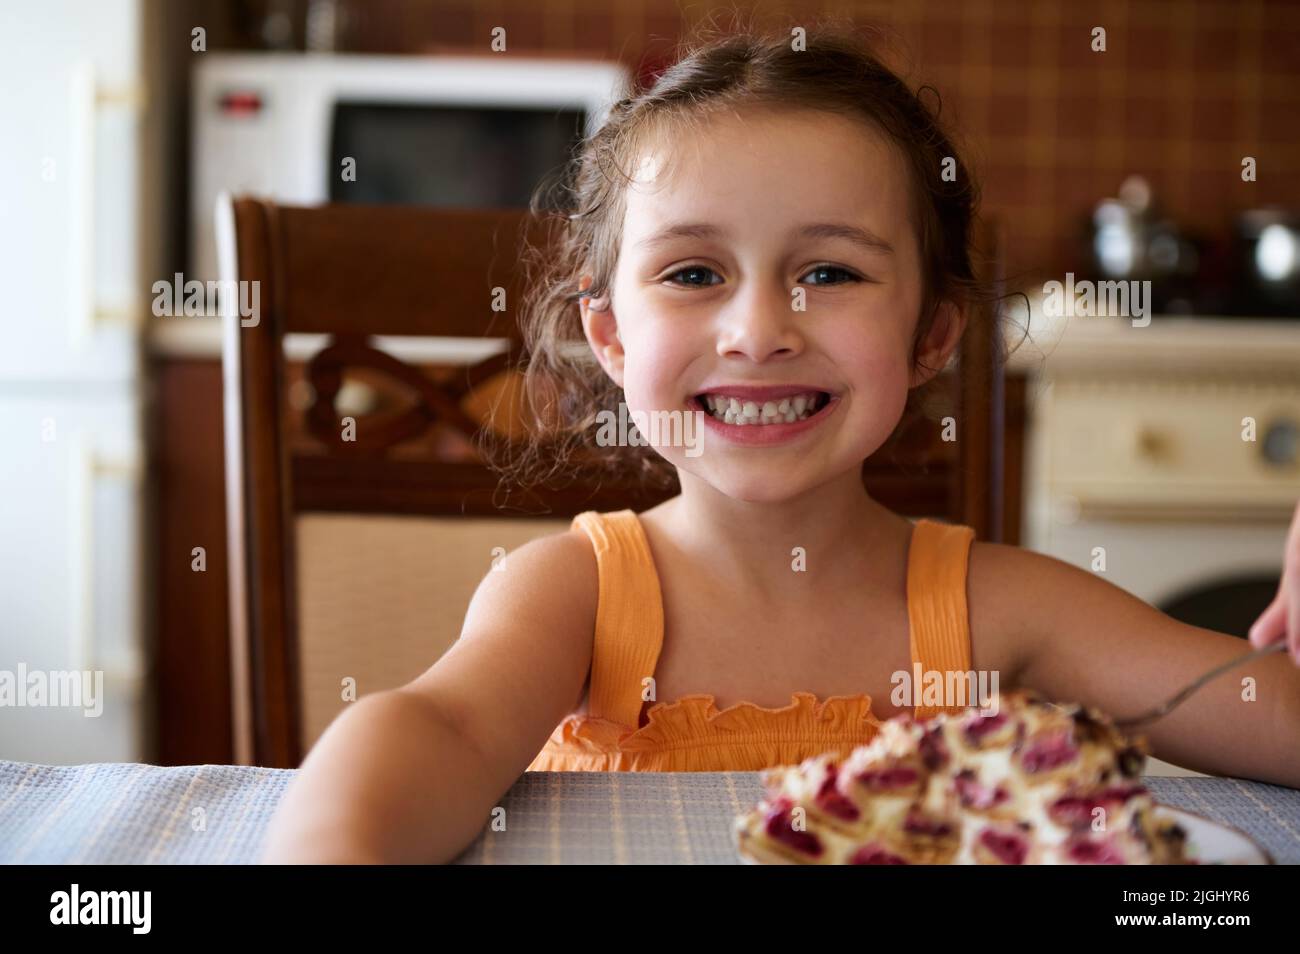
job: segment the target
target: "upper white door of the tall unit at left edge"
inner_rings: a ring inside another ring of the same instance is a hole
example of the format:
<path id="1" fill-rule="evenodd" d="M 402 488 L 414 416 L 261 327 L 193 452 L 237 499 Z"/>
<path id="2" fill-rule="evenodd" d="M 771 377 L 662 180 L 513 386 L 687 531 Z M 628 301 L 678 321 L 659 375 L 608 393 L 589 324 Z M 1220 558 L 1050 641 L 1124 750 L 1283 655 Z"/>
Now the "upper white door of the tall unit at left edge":
<path id="1" fill-rule="evenodd" d="M 0 18 L 0 381 L 133 378 L 150 304 L 140 0 L 9 3 Z"/>

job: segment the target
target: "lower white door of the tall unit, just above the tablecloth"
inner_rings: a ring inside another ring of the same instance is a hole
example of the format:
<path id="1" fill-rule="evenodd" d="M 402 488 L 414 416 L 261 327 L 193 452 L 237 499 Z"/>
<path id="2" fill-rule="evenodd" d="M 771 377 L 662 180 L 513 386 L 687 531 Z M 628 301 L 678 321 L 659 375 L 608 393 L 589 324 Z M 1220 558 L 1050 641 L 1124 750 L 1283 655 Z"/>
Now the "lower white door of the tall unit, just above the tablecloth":
<path id="1" fill-rule="evenodd" d="M 0 758 L 148 758 L 139 415 L 122 389 L 0 396 L 0 678 L 21 695 Z"/>

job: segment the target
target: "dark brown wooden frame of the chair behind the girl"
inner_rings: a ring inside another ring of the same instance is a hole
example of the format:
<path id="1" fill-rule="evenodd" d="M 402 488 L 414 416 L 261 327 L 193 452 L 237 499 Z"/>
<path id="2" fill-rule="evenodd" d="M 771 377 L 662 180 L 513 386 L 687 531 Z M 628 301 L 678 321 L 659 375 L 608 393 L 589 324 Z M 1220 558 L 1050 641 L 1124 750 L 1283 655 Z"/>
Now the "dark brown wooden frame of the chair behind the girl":
<path id="1" fill-rule="evenodd" d="M 217 229 L 222 278 L 260 283 L 256 324 L 229 305 L 225 316 L 235 760 L 295 767 L 307 747 L 295 519 L 520 516 L 495 499 L 497 476 L 468 439 L 482 419 L 467 407 L 478 390 L 510 378 L 519 329 L 514 312 L 491 311 L 491 290 L 520 300 L 517 243 L 537 226 L 514 209 L 292 208 L 240 198 L 224 200 Z M 966 522 L 996 539 L 1001 372 L 988 317 L 978 316 L 958 364 L 962 439 L 936 445 L 930 433 L 904 442 L 902 476 L 897 461 L 874 459 L 864 478 L 900 512 Z M 286 357 L 291 334 L 321 337 L 302 369 Z M 376 347 L 384 335 L 478 339 L 498 350 L 468 365 L 416 367 Z M 352 374 L 398 382 L 407 400 L 356 417 L 356 439 L 342 441 L 338 403 Z M 667 495 L 578 485 L 538 494 L 529 509 L 567 520 L 582 509 L 640 511 Z"/>

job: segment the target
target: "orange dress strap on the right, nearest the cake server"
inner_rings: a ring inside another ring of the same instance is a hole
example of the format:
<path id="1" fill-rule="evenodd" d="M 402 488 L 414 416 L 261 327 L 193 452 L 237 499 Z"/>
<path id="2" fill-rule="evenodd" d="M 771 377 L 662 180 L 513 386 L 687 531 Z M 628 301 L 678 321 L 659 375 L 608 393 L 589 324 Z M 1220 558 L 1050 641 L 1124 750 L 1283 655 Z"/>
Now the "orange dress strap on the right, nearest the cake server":
<path id="1" fill-rule="evenodd" d="M 920 663 L 922 673 L 945 673 L 945 684 L 946 673 L 971 668 L 966 571 L 974 538 L 975 530 L 962 524 L 918 520 L 907 550 L 913 671 Z M 942 710 L 942 706 L 915 706 L 915 716 L 928 719 Z"/>

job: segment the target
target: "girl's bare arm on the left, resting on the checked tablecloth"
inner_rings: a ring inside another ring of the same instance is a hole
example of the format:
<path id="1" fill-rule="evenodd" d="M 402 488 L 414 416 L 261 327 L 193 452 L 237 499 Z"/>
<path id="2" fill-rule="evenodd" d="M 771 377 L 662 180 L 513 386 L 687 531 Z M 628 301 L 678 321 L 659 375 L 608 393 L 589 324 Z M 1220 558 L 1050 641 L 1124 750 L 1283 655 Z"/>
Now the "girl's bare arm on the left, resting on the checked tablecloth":
<path id="1" fill-rule="evenodd" d="M 581 701 L 595 626 L 595 555 L 581 533 L 532 541 L 500 567 L 433 667 L 363 697 L 320 737 L 263 862 L 447 862 L 474 840 Z"/>

